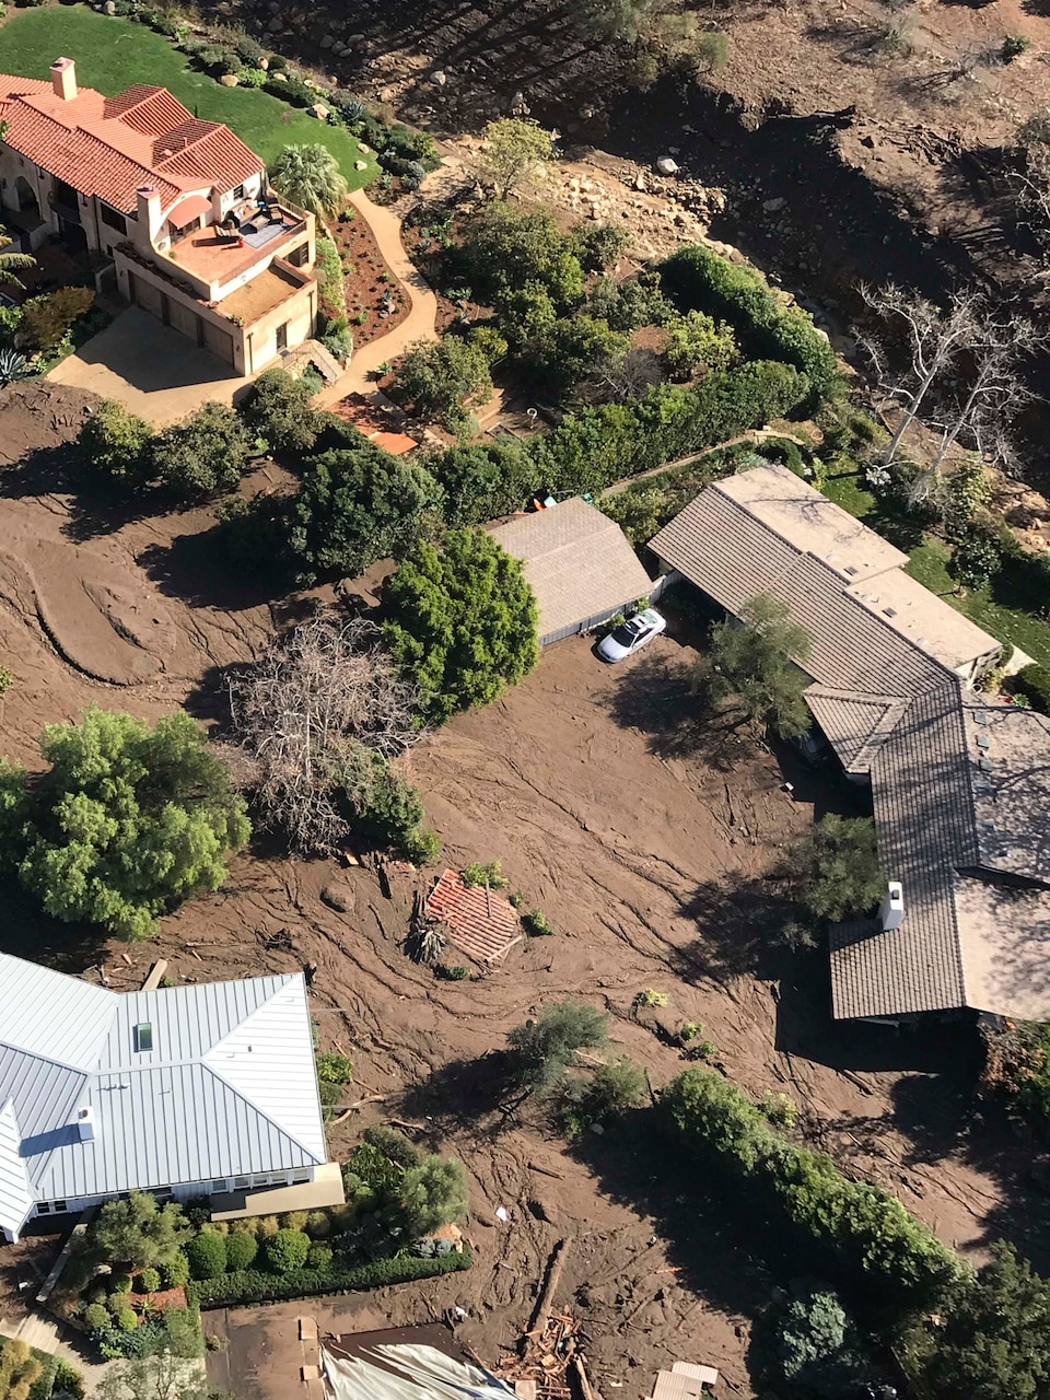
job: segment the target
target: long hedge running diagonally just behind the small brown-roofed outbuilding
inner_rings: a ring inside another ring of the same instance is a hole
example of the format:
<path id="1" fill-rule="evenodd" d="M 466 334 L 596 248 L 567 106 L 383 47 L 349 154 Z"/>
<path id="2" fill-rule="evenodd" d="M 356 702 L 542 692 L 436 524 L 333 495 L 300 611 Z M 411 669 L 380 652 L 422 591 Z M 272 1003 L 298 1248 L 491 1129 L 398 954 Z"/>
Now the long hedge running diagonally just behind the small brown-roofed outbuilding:
<path id="1" fill-rule="evenodd" d="M 536 441 L 538 482 L 559 494 L 603 491 L 783 417 L 808 393 L 804 374 L 759 360 L 708 374 L 694 388 L 662 384 L 644 399 L 584 409 Z"/>

